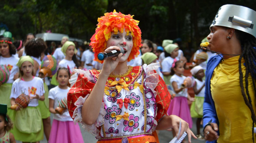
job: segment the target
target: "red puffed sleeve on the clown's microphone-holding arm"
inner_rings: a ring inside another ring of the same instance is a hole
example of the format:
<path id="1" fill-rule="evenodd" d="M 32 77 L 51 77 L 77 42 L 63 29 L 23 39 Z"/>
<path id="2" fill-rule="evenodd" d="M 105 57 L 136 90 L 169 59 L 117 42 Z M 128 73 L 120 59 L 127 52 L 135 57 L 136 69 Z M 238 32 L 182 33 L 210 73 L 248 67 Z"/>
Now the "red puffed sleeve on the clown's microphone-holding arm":
<path id="1" fill-rule="evenodd" d="M 73 112 L 76 108 L 76 105 L 74 105 L 74 103 L 80 96 L 84 98 L 87 94 L 90 94 L 94 85 L 95 83 L 88 81 L 88 79 L 84 77 L 84 74 L 78 75 L 75 84 L 69 89 L 67 96 L 69 114 L 72 118 Z"/>

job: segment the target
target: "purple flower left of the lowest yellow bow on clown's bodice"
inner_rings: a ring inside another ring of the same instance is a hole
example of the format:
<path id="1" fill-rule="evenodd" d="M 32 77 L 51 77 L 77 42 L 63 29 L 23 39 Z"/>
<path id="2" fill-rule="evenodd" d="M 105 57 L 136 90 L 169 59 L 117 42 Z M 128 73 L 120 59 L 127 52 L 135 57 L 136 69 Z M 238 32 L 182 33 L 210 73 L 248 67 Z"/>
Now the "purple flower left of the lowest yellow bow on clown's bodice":
<path id="1" fill-rule="evenodd" d="M 110 124 L 114 124 L 115 123 L 115 116 L 119 115 L 121 113 L 121 109 L 118 108 L 116 105 L 111 107 L 108 107 L 106 112 L 107 114 L 105 115 L 105 118 L 107 120 L 109 120 Z"/>

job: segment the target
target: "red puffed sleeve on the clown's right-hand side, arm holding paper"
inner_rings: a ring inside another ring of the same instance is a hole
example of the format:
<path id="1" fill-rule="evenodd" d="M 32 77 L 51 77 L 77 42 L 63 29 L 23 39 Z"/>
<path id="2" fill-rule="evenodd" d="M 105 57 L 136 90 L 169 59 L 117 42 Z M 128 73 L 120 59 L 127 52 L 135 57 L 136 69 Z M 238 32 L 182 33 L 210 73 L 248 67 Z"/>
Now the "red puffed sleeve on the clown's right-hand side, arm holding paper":
<path id="1" fill-rule="evenodd" d="M 164 80 L 158 75 L 158 83 L 155 88 L 157 115 L 155 120 L 158 122 L 164 115 L 167 115 L 167 110 L 171 102 L 171 94 L 169 93 Z"/>

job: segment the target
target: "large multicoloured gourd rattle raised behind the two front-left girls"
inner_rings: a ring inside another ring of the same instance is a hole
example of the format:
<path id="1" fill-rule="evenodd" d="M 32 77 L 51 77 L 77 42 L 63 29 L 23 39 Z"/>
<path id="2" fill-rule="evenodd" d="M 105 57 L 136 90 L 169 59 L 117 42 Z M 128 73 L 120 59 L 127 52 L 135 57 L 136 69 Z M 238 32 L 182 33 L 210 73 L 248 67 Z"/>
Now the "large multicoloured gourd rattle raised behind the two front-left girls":
<path id="1" fill-rule="evenodd" d="M 58 62 L 52 55 L 47 55 L 41 62 L 39 74 L 43 77 L 48 74 L 49 77 L 53 76 L 58 70 Z"/>

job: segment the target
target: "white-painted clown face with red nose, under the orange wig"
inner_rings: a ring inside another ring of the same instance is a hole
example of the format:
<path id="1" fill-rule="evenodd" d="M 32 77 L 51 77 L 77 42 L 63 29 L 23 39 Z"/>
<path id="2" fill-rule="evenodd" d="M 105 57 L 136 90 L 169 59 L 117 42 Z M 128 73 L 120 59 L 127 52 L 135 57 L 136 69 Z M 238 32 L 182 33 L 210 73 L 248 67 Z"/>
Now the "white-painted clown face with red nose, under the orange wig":
<path id="1" fill-rule="evenodd" d="M 128 35 L 126 34 L 125 30 L 123 33 L 117 32 L 117 34 L 111 32 L 110 39 L 108 39 L 106 45 L 107 48 L 110 46 L 119 46 L 124 49 L 125 54 L 121 57 L 120 62 L 125 62 L 128 59 L 133 47 L 131 32 Z"/>

